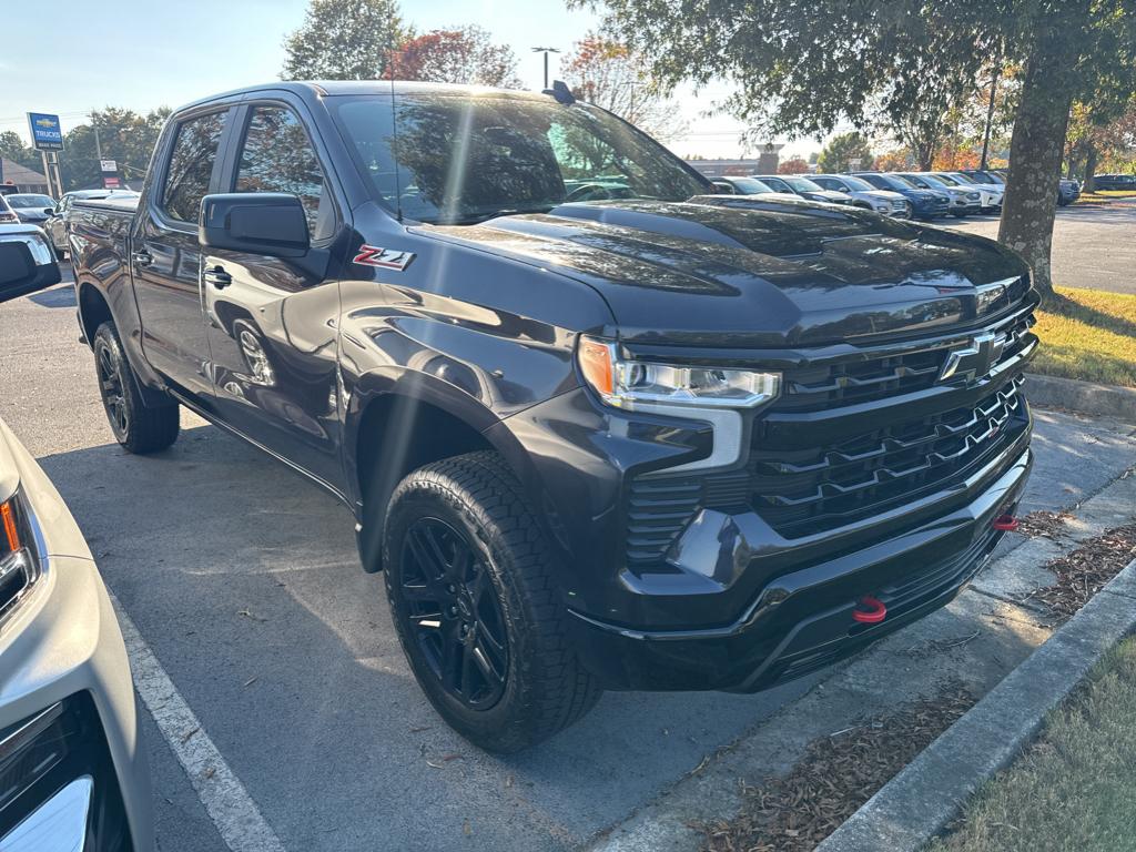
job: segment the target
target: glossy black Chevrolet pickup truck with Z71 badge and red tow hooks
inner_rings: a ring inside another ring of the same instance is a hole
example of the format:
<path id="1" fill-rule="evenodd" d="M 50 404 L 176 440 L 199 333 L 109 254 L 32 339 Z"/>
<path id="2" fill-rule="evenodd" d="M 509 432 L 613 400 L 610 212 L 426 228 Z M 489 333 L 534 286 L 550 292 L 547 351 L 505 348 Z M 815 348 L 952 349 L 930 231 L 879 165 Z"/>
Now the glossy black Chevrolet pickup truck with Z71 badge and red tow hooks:
<path id="1" fill-rule="evenodd" d="M 68 240 L 115 437 L 160 451 L 185 406 L 339 496 L 423 690 L 490 750 L 942 607 L 1031 463 L 1017 256 L 716 195 L 562 84 L 209 98 Z"/>

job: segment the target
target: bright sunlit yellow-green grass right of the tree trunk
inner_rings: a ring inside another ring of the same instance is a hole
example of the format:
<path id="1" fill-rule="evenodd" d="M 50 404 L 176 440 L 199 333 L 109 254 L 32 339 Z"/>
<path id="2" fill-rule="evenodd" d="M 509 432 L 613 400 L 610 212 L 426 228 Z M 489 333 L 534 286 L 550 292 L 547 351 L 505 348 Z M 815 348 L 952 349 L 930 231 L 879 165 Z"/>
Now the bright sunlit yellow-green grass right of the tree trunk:
<path id="1" fill-rule="evenodd" d="M 1042 345 L 1030 370 L 1136 387 L 1136 295 L 1074 287 L 1056 293 L 1037 311 Z"/>

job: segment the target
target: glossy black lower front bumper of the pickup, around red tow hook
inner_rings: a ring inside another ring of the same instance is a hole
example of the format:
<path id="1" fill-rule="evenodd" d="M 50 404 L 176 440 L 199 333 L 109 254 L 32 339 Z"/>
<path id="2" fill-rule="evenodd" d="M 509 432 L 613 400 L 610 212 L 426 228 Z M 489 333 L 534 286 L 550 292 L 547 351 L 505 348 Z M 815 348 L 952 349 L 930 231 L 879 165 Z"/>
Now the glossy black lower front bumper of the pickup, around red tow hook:
<path id="1" fill-rule="evenodd" d="M 644 632 L 574 613 L 584 665 L 609 690 L 757 692 L 809 674 L 949 603 L 986 563 L 1033 460 L 1025 450 L 974 501 L 902 535 L 782 575 L 742 618 L 710 629 Z M 878 624 L 852 618 L 872 595 Z"/>

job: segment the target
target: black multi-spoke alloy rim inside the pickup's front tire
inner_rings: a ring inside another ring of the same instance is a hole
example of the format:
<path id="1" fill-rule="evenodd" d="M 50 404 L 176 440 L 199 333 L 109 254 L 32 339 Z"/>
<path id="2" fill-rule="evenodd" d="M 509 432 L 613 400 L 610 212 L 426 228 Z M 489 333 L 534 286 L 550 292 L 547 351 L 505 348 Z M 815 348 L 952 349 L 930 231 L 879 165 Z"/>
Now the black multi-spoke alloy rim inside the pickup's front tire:
<path id="1" fill-rule="evenodd" d="M 406 532 L 400 571 L 408 619 L 434 676 L 473 710 L 504 693 L 509 636 L 488 569 L 463 533 L 438 518 Z"/>

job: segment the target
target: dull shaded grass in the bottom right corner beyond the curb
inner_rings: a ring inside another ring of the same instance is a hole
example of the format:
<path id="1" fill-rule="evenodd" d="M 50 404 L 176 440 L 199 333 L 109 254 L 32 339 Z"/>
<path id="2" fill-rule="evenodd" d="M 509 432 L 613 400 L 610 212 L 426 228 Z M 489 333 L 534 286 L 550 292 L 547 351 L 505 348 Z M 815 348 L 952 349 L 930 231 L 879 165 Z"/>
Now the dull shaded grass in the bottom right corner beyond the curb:
<path id="1" fill-rule="evenodd" d="M 1136 849 L 1136 640 L 1127 640 L 927 852 Z"/>

